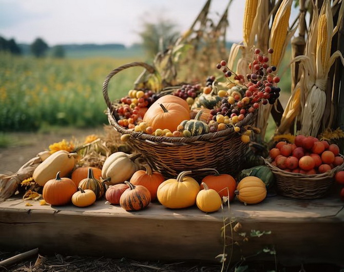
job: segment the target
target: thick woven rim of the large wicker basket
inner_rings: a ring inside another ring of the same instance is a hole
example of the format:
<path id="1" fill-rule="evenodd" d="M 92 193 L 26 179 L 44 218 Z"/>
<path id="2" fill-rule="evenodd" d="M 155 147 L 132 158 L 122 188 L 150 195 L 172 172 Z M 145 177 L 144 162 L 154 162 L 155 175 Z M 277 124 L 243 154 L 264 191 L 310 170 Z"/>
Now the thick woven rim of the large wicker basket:
<path id="1" fill-rule="evenodd" d="M 114 118 L 113 114 L 110 112 L 110 109 L 108 108 L 106 111 L 106 114 L 108 116 L 108 119 L 111 123 L 111 125 L 121 134 L 130 134 L 131 137 L 136 138 L 136 139 L 141 139 L 141 140 L 145 140 L 145 141 L 149 141 L 149 142 L 157 142 L 157 143 L 170 143 L 170 144 L 183 144 L 183 143 L 193 143 L 193 142 L 199 142 L 199 141 L 212 141 L 215 140 L 217 138 L 221 138 L 221 137 L 226 137 L 228 134 L 234 132 L 234 127 L 229 127 L 227 129 L 224 130 L 220 130 L 217 132 L 208 132 L 205 134 L 201 134 L 201 135 L 196 135 L 196 136 L 192 136 L 192 137 L 165 137 L 165 136 L 154 136 L 154 135 L 150 135 L 147 133 L 143 133 L 143 132 L 136 132 L 133 131 L 133 129 L 129 130 L 129 129 L 125 129 L 122 126 L 120 126 L 117 123 L 117 120 Z M 253 113 L 249 113 L 245 116 L 245 118 L 237 123 L 237 126 L 245 126 L 245 125 L 250 125 L 251 122 L 254 120 L 255 115 Z M 235 132 L 237 133 L 237 132 Z M 238 134 L 239 135 L 239 134 Z"/>

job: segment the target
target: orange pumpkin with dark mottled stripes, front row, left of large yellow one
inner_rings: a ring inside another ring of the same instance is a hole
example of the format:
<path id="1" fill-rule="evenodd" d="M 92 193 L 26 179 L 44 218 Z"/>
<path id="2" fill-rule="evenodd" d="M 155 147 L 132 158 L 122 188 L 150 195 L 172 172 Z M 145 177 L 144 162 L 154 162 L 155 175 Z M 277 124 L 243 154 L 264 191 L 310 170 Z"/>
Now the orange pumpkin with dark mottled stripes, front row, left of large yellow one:
<path id="1" fill-rule="evenodd" d="M 132 185 L 126 181 L 129 188 L 122 193 L 120 205 L 126 211 L 142 210 L 147 207 L 151 201 L 149 190 L 142 185 Z"/>

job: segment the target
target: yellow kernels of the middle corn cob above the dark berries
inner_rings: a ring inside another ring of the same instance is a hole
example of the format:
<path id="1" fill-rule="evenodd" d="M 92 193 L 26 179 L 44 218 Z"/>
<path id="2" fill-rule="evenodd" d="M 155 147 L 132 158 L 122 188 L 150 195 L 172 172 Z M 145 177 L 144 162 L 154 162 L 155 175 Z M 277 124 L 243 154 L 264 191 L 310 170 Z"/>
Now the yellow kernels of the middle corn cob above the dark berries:
<path id="1" fill-rule="evenodd" d="M 291 6 L 286 8 L 285 13 L 281 17 L 280 20 L 276 21 L 274 20 L 272 24 L 271 30 L 274 33 L 271 33 L 272 40 L 270 43 L 270 48 L 274 49 L 274 53 L 271 54 L 271 65 L 278 66 L 279 60 L 281 59 L 281 54 L 282 54 L 282 49 L 284 46 L 284 42 L 286 39 L 286 34 L 288 33 L 288 26 L 289 26 L 289 17 L 290 17 L 290 11 L 291 11 Z M 280 9 L 277 11 L 276 17 L 278 16 L 278 12 Z"/>

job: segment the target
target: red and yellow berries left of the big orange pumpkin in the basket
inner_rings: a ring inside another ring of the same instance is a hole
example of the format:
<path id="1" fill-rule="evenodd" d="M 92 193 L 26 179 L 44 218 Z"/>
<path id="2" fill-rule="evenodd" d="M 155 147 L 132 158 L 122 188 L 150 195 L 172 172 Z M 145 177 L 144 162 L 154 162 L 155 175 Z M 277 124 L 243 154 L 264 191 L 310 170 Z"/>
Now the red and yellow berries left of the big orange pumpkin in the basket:
<path id="1" fill-rule="evenodd" d="M 136 124 L 142 121 L 147 107 L 157 99 L 157 94 L 151 90 L 130 90 L 128 95 L 121 99 L 123 105 L 117 109 L 120 116 L 118 124 L 123 127 L 134 128 Z"/>

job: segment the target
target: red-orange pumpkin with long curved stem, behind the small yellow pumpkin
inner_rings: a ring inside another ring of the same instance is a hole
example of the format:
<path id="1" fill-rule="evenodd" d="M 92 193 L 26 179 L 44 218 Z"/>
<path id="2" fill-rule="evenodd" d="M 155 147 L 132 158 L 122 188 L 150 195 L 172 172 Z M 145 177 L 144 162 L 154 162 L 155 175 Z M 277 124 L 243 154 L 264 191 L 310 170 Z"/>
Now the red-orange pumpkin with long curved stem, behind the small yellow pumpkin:
<path id="1" fill-rule="evenodd" d="M 216 169 L 213 168 L 203 168 L 199 170 L 214 172 L 214 175 L 204 177 L 202 182 L 206 183 L 209 188 L 217 191 L 221 198 L 228 197 L 229 192 L 230 201 L 234 200 L 234 191 L 237 188 L 237 183 L 230 174 L 220 174 Z M 203 189 L 202 185 L 201 189 Z"/>

